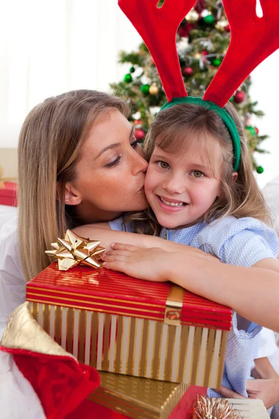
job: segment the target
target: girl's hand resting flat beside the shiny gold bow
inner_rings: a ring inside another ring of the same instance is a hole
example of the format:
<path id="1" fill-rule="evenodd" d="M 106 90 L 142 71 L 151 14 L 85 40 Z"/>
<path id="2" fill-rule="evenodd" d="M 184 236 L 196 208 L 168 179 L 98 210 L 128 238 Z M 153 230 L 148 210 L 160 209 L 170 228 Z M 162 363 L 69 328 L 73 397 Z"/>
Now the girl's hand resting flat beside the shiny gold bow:
<path id="1" fill-rule="evenodd" d="M 102 255 L 103 266 L 148 281 L 167 281 L 167 265 L 175 253 L 158 247 L 145 249 L 130 244 L 112 243 L 112 250 Z"/>

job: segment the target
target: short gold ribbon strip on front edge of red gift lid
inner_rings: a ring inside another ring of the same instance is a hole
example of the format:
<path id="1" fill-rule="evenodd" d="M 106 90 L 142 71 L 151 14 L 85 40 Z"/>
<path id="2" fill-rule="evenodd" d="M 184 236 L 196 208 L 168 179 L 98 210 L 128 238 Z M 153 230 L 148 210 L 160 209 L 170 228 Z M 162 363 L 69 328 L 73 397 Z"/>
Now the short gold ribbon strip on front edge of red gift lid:
<path id="1" fill-rule="evenodd" d="M 172 284 L 169 295 L 167 296 L 165 319 L 167 325 L 181 324 L 181 311 L 183 306 L 184 288 Z"/>

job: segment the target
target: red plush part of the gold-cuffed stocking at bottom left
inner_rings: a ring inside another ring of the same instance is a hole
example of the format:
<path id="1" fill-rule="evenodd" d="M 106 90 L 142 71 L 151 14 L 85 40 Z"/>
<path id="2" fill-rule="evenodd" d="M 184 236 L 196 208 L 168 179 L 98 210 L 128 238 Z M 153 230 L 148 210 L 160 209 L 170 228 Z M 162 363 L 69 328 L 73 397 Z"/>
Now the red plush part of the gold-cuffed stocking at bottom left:
<path id="1" fill-rule="evenodd" d="M 63 419 L 100 385 L 96 369 L 70 356 L 44 355 L 0 346 L 11 353 L 38 395 L 47 419 Z"/>

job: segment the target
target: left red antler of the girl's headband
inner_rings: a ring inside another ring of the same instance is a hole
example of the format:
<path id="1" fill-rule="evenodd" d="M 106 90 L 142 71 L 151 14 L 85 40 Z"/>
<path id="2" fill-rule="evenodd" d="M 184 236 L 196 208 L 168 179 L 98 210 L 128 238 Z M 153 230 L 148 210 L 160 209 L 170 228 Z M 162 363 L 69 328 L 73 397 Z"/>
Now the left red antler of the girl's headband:
<path id="1" fill-rule="evenodd" d="M 176 31 L 195 0 L 119 0 L 119 7 L 133 23 L 156 64 L 167 100 L 187 96 L 176 51 Z"/>

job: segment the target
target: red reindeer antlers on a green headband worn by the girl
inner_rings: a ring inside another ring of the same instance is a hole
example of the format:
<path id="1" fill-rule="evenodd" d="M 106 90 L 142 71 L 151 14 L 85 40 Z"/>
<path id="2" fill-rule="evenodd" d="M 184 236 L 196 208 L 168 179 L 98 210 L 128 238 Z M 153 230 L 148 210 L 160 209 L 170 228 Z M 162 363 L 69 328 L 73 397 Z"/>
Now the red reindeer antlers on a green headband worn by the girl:
<path id="1" fill-rule="evenodd" d="M 203 98 L 187 95 L 176 52 L 176 31 L 195 0 L 165 0 L 161 8 L 157 4 L 158 0 L 119 0 L 119 7 L 142 36 L 156 64 L 167 96 L 162 109 L 193 103 L 217 112 L 232 138 L 236 171 L 241 155 L 239 132 L 223 106 L 251 71 L 278 49 L 279 1 L 261 0 L 263 17 L 258 17 L 256 0 L 223 0 L 231 42 Z"/>

